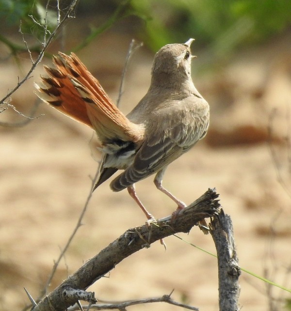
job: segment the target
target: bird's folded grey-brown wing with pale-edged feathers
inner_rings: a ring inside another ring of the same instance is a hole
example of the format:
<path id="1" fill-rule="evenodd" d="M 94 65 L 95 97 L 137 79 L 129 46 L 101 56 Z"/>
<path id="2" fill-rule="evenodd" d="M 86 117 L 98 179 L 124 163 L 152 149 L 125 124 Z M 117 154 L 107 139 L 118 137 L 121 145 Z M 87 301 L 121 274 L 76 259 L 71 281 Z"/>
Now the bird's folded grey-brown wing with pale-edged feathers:
<path id="1" fill-rule="evenodd" d="M 112 181 L 110 186 L 113 191 L 120 191 L 160 171 L 202 139 L 209 123 L 207 106 L 205 105 L 206 109 L 203 108 L 205 111 L 195 111 L 192 116 L 185 109 L 178 119 L 167 116 L 166 113 L 162 118 L 159 117 L 160 122 L 153 123 L 156 129 L 150 130 L 152 135 L 146 137 L 132 165 Z M 167 125 L 162 126 L 163 121 Z"/>

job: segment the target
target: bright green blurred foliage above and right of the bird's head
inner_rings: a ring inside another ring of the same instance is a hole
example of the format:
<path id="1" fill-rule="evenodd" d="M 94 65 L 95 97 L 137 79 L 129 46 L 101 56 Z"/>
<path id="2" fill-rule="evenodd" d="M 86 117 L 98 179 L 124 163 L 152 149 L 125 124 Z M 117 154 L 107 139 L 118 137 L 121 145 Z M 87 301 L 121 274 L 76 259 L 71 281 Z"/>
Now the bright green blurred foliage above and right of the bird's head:
<path id="1" fill-rule="evenodd" d="M 132 0 L 131 5 L 148 16 L 141 35 L 154 50 L 194 37 L 219 55 L 291 26 L 290 0 Z"/>

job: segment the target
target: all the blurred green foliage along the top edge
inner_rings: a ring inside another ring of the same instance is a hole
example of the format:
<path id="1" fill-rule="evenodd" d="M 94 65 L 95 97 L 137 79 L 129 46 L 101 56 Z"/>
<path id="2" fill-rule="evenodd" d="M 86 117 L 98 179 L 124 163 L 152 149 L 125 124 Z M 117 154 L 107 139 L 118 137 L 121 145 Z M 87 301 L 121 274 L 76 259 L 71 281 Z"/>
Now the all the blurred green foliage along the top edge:
<path id="1" fill-rule="evenodd" d="M 9 41 L 3 38 L 3 30 L 19 27 L 20 20 L 23 32 L 41 38 L 45 19 L 49 28 L 56 24 L 56 0 L 48 3 L 47 0 L 0 0 L 0 40 L 7 45 Z M 64 8 L 69 3 L 60 0 Z M 196 47 L 208 47 L 214 58 L 222 59 L 238 47 L 262 42 L 290 27 L 291 0 L 80 0 L 78 15 L 108 19 L 91 31 L 78 48 L 121 19 L 135 16 L 139 23 L 132 31 L 154 51 L 165 44 L 194 37 Z"/>

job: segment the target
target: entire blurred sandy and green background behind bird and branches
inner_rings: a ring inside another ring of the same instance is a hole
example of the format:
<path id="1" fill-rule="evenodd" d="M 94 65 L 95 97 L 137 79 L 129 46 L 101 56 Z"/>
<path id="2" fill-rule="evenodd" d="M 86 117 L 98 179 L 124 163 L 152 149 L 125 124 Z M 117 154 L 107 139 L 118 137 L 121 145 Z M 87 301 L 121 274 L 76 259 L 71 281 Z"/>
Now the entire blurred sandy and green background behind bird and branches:
<path id="1" fill-rule="evenodd" d="M 61 18 L 70 1 L 60 1 Z M 80 0 L 42 62 L 0 106 L 0 310 L 29 304 L 23 287 L 40 295 L 54 261 L 76 226 L 100 155 L 89 128 L 39 103 L 33 82 L 51 55 L 74 51 L 114 102 L 132 39 L 120 109 L 128 113 L 146 93 L 154 53 L 168 43 L 192 45 L 193 80 L 210 104 L 203 141 L 172 163 L 163 185 L 187 204 L 216 187 L 233 221 L 240 265 L 291 287 L 291 1 Z M 57 25 L 56 1 L 0 0 L 0 97 L 32 67 Z M 19 30 L 20 29 L 20 30 Z M 13 105 L 17 111 L 13 109 Z M 31 116 L 30 120 L 25 116 Z M 153 177 L 136 185 L 156 217 L 176 208 Z M 109 182 L 88 210 L 48 288 L 124 233 L 145 222 L 127 191 Z M 198 228 L 180 235 L 215 252 Z M 199 310 L 218 310 L 217 261 L 175 237 L 118 264 L 89 290 L 97 299 L 169 294 Z M 243 310 L 290 310 L 290 293 L 242 272 Z M 289 307 L 288 307 L 289 304 Z M 178 310 L 157 304 L 129 310 Z"/>

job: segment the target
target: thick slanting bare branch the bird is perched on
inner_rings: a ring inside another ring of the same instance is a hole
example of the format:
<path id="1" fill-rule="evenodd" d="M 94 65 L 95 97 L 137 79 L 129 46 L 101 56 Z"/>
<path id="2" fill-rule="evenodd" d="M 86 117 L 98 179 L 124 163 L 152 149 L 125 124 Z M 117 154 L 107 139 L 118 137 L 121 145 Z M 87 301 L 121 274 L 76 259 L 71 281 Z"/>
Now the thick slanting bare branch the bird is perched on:
<path id="1" fill-rule="evenodd" d="M 94 258 L 43 298 L 33 311 L 63 311 L 75 304 L 78 299 L 69 299 L 64 295 L 68 289 L 85 291 L 95 281 L 112 270 L 116 264 L 134 252 L 147 248 L 150 244 L 178 232 L 188 233 L 191 228 L 204 218 L 217 214 L 220 204 L 215 189 L 208 189 L 200 198 L 181 210 L 176 218 L 168 216 L 155 223 L 127 230 Z"/>

